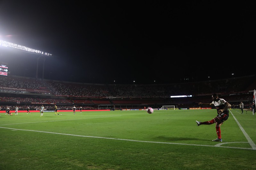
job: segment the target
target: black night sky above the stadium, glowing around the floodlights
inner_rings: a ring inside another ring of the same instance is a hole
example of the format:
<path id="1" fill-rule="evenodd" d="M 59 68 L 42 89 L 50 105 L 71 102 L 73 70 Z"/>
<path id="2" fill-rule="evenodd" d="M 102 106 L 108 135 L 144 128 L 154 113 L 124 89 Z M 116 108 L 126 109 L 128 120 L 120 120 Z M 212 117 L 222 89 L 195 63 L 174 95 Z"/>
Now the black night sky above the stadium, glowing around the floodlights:
<path id="1" fill-rule="evenodd" d="M 235 2 L 1 0 L 0 40 L 53 54 L 45 79 L 159 84 L 252 75 L 255 2 Z M 12 75 L 36 77 L 37 57 L 0 48 Z"/>

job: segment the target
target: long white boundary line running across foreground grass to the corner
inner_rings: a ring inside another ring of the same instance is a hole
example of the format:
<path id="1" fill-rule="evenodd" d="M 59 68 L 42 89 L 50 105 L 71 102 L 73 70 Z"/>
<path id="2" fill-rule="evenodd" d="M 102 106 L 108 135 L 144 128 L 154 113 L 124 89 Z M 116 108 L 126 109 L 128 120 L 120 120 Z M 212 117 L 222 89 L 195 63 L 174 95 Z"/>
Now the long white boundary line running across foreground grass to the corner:
<path id="1" fill-rule="evenodd" d="M 73 135 L 73 134 L 65 134 L 65 133 L 44 132 L 44 131 L 38 131 L 38 130 L 13 129 L 13 128 L 5 128 L 5 127 L 0 127 L 0 128 L 12 129 L 12 130 L 32 131 L 32 132 L 41 132 L 41 133 L 51 133 L 51 134 L 58 134 L 58 135 L 69 135 L 69 136 L 77 136 L 77 137 L 93 137 L 93 136 Z M 180 144 L 180 143 L 169 143 L 169 142 L 153 142 L 153 141 L 141 141 L 141 140 L 119 139 L 119 138 L 112 138 L 112 137 L 93 137 L 93 138 L 112 139 L 112 140 L 122 140 L 122 141 L 131 141 L 131 142 L 156 143 L 156 144 L 177 144 L 177 145 L 208 146 L 208 147 L 221 147 L 221 148 L 233 148 L 233 149 L 255 150 L 255 149 L 253 149 L 253 148 L 240 148 L 240 147 L 229 147 L 229 146 L 219 146 L 219 145 L 202 145 L 202 144 Z"/>

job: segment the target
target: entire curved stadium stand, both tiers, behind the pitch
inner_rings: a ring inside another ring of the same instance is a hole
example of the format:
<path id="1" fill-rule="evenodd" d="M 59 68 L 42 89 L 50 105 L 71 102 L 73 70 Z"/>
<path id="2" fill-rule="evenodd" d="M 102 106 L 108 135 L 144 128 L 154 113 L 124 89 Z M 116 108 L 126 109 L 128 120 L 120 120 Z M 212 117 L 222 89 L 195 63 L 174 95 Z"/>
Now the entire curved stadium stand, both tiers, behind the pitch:
<path id="1" fill-rule="evenodd" d="M 256 86 L 255 75 L 209 80 L 153 85 L 105 85 L 42 80 L 18 76 L 1 76 L 0 106 L 18 105 L 37 109 L 44 104 L 52 109 L 70 109 L 73 105 L 83 109 L 107 107 L 139 108 L 162 105 L 178 107 L 198 107 L 198 102 L 210 102 L 209 95 L 218 93 L 232 105 L 244 102 L 244 108 L 252 104 L 252 92 Z M 192 95 L 189 98 L 170 98 L 176 95 Z"/>

